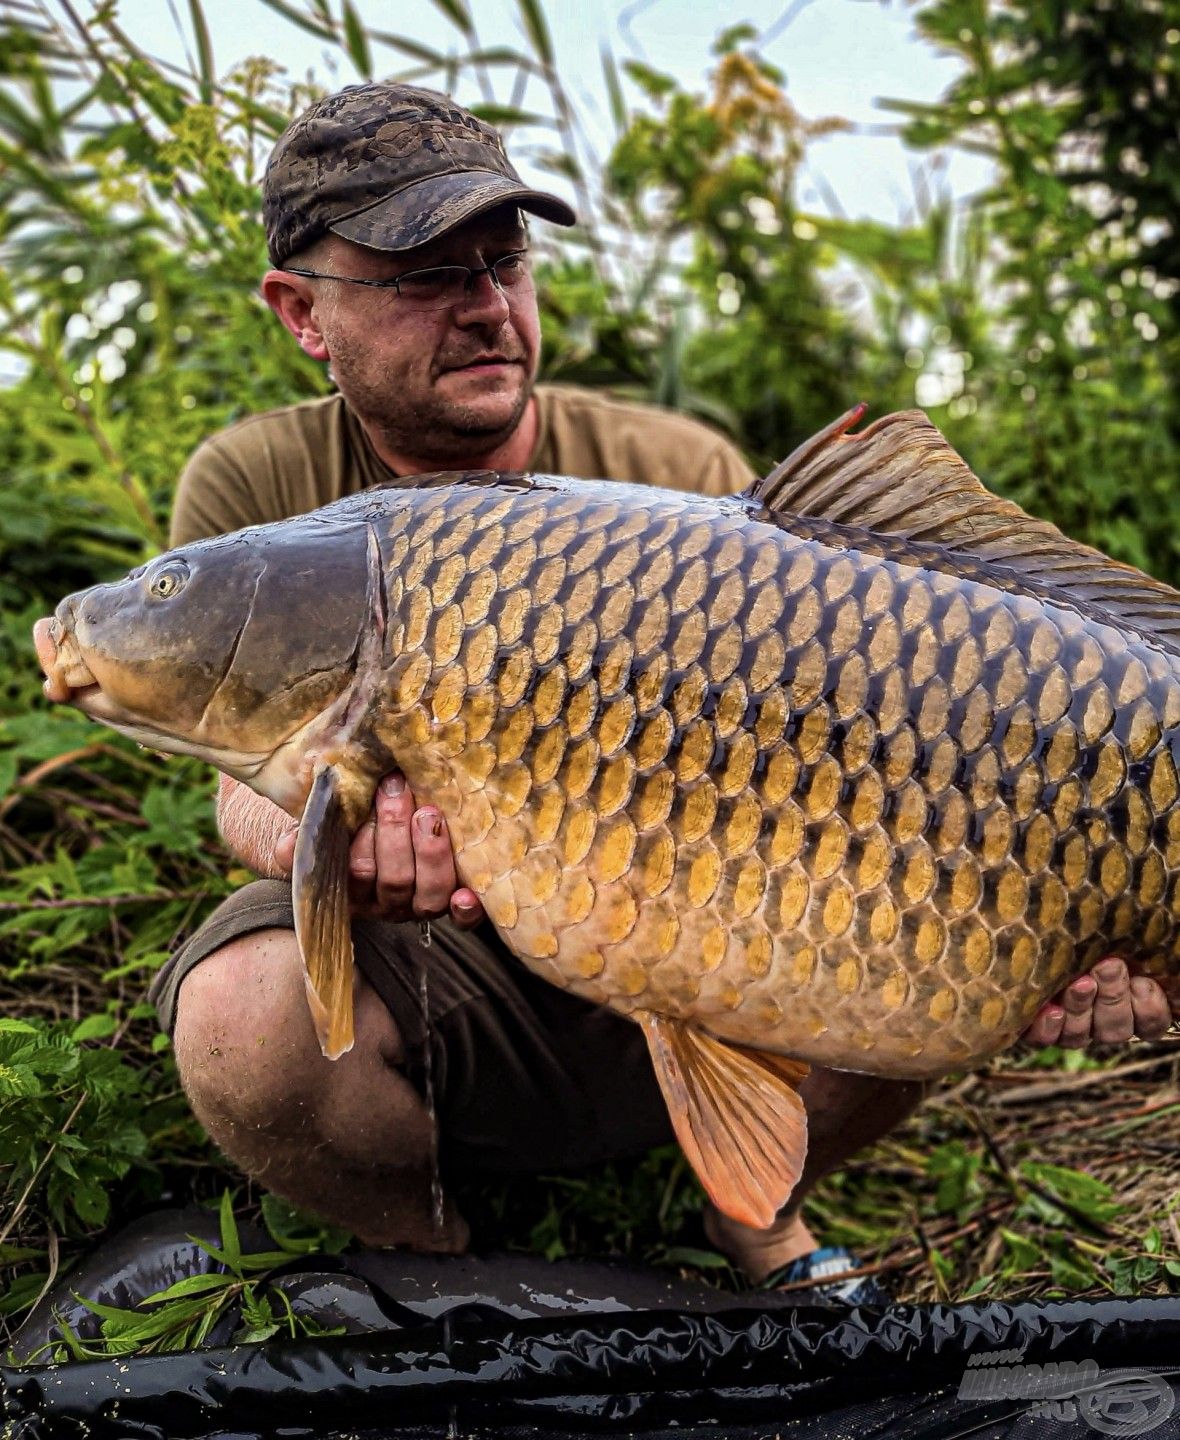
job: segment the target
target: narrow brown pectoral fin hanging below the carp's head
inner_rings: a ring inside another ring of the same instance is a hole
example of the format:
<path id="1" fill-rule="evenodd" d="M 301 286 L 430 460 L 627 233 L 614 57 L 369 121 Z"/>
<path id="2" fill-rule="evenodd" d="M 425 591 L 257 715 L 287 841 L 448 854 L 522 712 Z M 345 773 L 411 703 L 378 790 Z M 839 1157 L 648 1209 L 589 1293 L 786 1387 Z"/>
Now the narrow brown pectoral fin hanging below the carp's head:
<path id="1" fill-rule="evenodd" d="M 353 1048 L 349 845 L 339 776 L 330 765 L 321 765 L 300 821 L 291 884 L 307 1001 L 328 1060 Z"/>

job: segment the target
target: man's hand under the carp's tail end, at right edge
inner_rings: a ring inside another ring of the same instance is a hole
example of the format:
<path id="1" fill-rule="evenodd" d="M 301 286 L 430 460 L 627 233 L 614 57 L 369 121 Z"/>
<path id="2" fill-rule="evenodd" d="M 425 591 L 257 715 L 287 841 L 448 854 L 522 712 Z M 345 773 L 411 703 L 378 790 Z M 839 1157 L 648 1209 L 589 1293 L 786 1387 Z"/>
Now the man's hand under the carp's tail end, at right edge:
<path id="1" fill-rule="evenodd" d="M 1127 962 L 1111 956 L 1046 1001 L 1020 1037 L 1029 1045 L 1082 1050 L 1158 1040 L 1171 1024 L 1163 989 L 1148 975 L 1131 979 Z"/>

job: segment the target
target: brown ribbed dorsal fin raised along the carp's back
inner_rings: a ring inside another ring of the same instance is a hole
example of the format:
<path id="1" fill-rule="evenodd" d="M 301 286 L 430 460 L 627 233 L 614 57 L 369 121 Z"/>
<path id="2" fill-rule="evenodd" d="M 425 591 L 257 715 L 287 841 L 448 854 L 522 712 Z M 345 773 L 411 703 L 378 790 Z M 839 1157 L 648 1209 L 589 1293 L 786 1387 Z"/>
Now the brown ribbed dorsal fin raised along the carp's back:
<path id="1" fill-rule="evenodd" d="M 805 441 L 755 481 L 749 498 L 781 514 L 970 553 L 1037 592 L 1066 592 L 1114 624 L 1180 649 L 1180 593 L 1171 586 L 993 495 L 921 410 L 886 415 L 849 435 L 863 413 L 857 406 Z"/>

